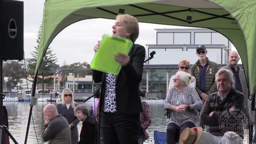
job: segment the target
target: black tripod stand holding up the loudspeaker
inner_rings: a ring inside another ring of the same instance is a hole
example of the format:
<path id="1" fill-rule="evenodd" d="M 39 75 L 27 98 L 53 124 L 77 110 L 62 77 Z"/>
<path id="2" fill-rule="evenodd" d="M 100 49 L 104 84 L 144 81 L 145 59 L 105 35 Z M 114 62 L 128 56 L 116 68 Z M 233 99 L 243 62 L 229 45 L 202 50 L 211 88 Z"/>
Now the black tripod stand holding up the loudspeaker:
<path id="1" fill-rule="evenodd" d="M 3 118 L 3 60 L 0 60 L 0 144 L 2 144 L 2 137 L 3 137 L 3 131 L 5 131 L 8 136 L 12 139 L 12 141 L 15 144 L 18 144 L 18 142 L 15 140 L 15 138 L 12 136 L 12 134 L 9 132 L 8 128 L 4 126 L 4 118 Z"/>

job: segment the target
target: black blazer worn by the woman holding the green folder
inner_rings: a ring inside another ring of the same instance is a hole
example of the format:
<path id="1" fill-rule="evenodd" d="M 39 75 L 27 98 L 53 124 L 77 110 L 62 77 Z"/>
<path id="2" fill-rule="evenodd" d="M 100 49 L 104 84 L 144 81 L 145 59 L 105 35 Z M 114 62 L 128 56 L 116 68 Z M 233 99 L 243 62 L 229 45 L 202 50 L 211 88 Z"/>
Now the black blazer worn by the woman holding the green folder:
<path id="1" fill-rule="evenodd" d="M 139 84 L 142 80 L 145 48 L 134 44 L 129 52 L 130 63 L 122 67 L 116 81 L 116 114 L 136 114 L 142 112 L 139 95 Z M 105 96 L 106 73 L 92 70 L 94 82 L 102 82 L 100 94 L 100 111 L 103 107 Z"/>

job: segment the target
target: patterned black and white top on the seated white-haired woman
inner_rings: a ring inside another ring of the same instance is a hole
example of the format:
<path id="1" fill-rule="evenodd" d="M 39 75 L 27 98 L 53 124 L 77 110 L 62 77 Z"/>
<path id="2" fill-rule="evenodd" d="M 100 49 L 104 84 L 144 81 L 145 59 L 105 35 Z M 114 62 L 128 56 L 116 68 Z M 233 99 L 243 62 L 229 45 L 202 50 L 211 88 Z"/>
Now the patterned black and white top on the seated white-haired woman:
<path id="1" fill-rule="evenodd" d="M 170 88 L 166 100 L 164 102 L 164 108 L 169 109 L 172 106 L 179 106 L 181 104 L 193 105 L 193 110 L 186 110 L 184 113 L 175 112 L 169 110 L 170 119 L 169 123 L 177 124 L 181 126 L 185 122 L 192 122 L 196 126 L 200 124 L 199 110 L 202 109 L 202 102 L 196 92 L 196 89 L 192 86 L 188 86 L 186 90 L 178 91 L 175 87 Z"/>

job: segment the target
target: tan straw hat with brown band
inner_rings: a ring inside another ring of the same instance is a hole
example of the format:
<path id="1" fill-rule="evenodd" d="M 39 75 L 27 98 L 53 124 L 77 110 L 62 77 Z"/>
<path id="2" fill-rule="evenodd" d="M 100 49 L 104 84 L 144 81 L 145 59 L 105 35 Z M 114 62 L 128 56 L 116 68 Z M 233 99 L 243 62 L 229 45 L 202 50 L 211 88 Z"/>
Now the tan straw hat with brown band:
<path id="1" fill-rule="evenodd" d="M 198 144 L 203 133 L 200 126 L 194 128 L 185 128 L 180 134 L 179 144 Z"/>

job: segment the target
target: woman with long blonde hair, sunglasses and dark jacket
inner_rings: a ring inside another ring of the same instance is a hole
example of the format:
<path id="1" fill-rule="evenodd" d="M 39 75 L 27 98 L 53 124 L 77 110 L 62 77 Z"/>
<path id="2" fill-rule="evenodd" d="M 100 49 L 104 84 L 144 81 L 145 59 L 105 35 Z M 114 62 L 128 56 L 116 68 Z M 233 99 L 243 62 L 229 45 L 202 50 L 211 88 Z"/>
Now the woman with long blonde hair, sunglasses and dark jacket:
<path id="1" fill-rule="evenodd" d="M 61 114 L 64 118 L 66 118 L 66 120 L 68 121 L 71 130 L 71 144 L 77 144 L 77 124 L 79 123 L 79 120 L 74 114 L 74 108 L 77 106 L 77 104 L 76 102 L 74 102 L 72 90 L 70 90 L 70 88 L 65 88 L 62 91 L 61 99 L 62 101 L 56 105 L 58 113 Z"/>

